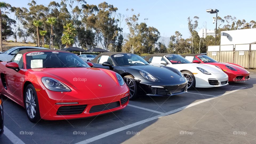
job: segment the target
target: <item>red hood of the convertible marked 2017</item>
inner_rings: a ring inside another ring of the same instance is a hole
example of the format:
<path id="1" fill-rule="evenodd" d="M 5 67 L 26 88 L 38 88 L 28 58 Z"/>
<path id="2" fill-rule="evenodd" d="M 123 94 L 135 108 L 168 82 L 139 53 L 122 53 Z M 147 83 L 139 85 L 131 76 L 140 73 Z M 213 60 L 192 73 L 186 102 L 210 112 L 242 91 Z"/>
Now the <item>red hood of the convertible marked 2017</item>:
<path id="1" fill-rule="evenodd" d="M 104 69 L 74 67 L 30 69 L 30 71 L 42 77 L 55 78 L 74 89 L 95 90 L 117 86 L 116 76 Z"/>

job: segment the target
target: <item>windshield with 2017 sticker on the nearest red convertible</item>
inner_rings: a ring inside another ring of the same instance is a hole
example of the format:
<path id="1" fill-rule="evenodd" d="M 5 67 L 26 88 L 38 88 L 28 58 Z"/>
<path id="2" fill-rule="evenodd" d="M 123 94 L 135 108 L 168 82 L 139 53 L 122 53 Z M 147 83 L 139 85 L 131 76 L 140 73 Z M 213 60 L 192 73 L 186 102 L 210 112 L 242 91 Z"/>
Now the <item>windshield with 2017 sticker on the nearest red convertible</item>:
<path id="1" fill-rule="evenodd" d="M 27 69 L 90 67 L 76 54 L 59 51 L 35 51 L 26 54 Z"/>

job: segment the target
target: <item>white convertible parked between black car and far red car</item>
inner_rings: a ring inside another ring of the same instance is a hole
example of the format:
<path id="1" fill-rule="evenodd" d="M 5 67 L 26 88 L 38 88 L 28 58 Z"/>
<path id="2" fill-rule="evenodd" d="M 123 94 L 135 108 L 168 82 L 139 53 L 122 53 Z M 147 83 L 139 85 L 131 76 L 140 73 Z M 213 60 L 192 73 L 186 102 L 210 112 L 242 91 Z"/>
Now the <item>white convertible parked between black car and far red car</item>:
<path id="1" fill-rule="evenodd" d="M 151 65 L 173 67 L 181 71 L 192 87 L 219 87 L 228 85 L 228 75 L 217 67 L 191 63 L 178 54 L 157 53 L 145 58 Z"/>

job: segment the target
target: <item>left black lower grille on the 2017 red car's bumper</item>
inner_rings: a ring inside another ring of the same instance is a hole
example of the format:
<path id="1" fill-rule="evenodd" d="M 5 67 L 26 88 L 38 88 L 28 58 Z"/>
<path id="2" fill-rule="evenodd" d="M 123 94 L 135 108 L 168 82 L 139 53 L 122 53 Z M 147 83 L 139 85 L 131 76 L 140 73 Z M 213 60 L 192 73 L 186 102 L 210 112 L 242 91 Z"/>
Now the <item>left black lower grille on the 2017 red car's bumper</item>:
<path id="1" fill-rule="evenodd" d="M 87 105 L 61 106 L 57 110 L 57 115 L 81 114 Z"/>

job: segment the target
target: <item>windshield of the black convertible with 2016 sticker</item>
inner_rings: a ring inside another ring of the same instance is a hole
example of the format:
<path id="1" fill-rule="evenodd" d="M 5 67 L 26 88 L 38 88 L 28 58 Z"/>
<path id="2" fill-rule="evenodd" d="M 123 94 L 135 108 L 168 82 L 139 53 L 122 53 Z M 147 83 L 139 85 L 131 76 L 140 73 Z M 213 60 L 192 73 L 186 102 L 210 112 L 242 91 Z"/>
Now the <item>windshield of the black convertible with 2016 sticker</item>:
<path id="1" fill-rule="evenodd" d="M 118 66 L 149 65 L 147 61 L 136 54 L 112 55 Z"/>

